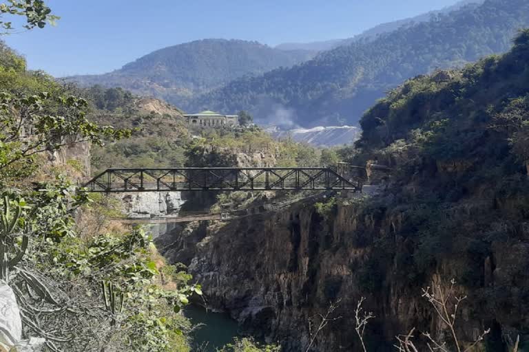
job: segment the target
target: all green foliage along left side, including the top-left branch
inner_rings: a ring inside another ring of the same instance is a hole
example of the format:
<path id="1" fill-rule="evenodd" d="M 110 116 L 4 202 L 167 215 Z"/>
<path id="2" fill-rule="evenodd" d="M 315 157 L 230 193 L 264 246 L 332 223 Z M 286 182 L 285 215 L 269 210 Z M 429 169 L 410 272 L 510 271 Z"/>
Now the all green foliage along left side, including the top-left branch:
<path id="1" fill-rule="evenodd" d="M 27 14 L 28 29 L 55 19 L 43 1 L 10 4 L 17 10 L 0 5 L 0 12 Z M 26 71 L 23 58 L 3 44 L 0 54 L 0 278 L 17 296 L 24 338 L 44 338 L 46 351 L 189 351 L 190 324 L 180 309 L 201 294 L 190 276 L 166 265 L 140 229 L 105 221 L 92 231 L 80 228 L 81 217 L 105 217 L 102 199 L 91 202 L 50 175 L 30 186 L 45 164 L 39 156 L 129 131 L 91 122 L 87 100 Z"/>

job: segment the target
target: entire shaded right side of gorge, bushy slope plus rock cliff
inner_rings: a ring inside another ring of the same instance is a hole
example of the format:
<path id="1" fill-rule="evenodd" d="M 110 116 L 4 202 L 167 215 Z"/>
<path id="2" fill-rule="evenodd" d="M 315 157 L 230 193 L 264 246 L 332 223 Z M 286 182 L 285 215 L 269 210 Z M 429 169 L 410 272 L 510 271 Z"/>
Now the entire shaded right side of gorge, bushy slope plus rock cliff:
<path id="1" fill-rule="evenodd" d="M 313 346 L 360 349 L 353 312 L 362 297 L 376 316 L 366 329 L 370 350 L 391 349 L 412 328 L 439 333 L 444 325 L 421 289 L 452 278 L 467 296 L 461 340 L 490 329 L 490 351 L 512 349 L 526 317 L 529 149 L 525 127 L 504 126 L 527 113 L 527 35 L 504 56 L 409 80 L 364 115 L 354 159 L 397 170 L 381 192 L 190 223 L 158 237 L 158 248 L 188 265 L 211 307 L 285 351 L 306 349 L 309 319 L 337 300 L 340 319 Z M 233 160 L 204 151 L 205 159 Z"/>

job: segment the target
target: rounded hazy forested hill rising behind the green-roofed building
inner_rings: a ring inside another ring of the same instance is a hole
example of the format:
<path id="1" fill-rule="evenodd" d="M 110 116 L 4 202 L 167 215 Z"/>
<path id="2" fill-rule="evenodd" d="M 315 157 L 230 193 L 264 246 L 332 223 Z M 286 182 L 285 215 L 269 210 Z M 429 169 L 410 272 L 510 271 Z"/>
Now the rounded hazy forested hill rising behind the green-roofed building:
<path id="1" fill-rule="evenodd" d="M 192 94 L 243 76 L 291 67 L 314 54 L 306 50 L 273 49 L 256 41 L 204 39 L 157 50 L 108 74 L 67 79 L 85 87 L 122 87 L 180 105 Z"/>

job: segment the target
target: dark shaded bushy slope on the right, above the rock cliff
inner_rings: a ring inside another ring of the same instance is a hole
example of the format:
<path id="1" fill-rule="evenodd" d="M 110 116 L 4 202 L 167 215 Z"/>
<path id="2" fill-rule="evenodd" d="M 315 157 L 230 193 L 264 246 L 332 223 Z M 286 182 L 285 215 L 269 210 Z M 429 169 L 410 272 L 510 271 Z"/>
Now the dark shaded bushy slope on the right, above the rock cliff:
<path id="1" fill-rule="evenodd" d="M 490 328 L 486 351 L 507 351 L 517 334 L 526 346 L 529 30 L 503 56 L 406 81 L 360 124 L 355 162 L 395 170 L 387 197 L 360 214 L 392 224 L 362 239 L 371 248 L 364 294 L 455 278 L 470 306 L 458 332 L 470 341 L 472 325 Z"/>

